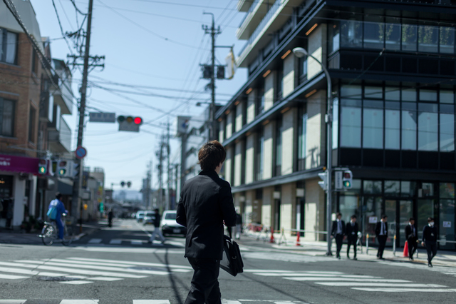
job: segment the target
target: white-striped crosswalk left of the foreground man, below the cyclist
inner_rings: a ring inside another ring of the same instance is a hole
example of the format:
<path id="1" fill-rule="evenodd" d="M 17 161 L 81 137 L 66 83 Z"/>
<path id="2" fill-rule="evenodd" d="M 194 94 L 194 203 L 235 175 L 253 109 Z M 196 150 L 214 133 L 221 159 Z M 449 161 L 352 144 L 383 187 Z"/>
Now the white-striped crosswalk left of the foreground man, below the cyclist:
<path id="1" fill-rule="evenodd" d="M 192 271 L 190 266 L 95 258 L 0 261 L 0 280 L 36 278 L 56 280 L 58 283 L 68 285 L 147 278 L 151 275 L 170 275 L 190 271 Z"/>

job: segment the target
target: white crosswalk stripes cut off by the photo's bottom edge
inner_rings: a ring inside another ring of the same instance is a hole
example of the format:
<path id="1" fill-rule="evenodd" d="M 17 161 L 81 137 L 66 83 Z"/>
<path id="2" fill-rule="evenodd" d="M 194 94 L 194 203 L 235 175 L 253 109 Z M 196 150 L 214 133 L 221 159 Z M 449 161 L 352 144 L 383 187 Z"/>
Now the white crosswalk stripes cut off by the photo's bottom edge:
<path id="1" fill-rule="evenodd" d="M 48 300 L 48 299 L 46 299 Z M 30 300 L 30 303 L 36 303 L 36 300 Z M 56 302 L 57 303 L 57 302 Z M 59 304 L 102 304 L 103 300 L 61 300 Z M 132 304 L 170 304 L 170 300 L 131 300 Z M 289 300 L 222 300 L 222 304 L 309 304 L 302 301 Z M 27 304 L 27 300 L 0 300 L 0 304 Z"/>

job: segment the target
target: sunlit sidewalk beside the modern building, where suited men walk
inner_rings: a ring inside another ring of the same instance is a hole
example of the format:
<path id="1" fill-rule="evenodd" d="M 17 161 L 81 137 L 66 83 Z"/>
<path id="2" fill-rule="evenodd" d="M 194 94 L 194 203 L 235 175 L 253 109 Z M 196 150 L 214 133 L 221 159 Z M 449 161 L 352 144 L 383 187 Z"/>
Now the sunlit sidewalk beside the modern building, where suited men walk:
<path id="1" fill-rule="evenodd" d="M 264 234 L 262 235 L 264 236 Z M 269 235 L 270 238 L 271 235 Z M 269 248 L 274 248 L 277 250 L 286 250 L 290 252 L 296 253 L 303 253 L 304 255 L 312 255 L 312 256 L 324 256 L 326 255 L 326 249 L 328 248 L 328 244 L 326 241 L 306 241 L 301 238 L 300 245 L 296 245 L 296 236 L 294 237 L 286 237 L 286 240 L 281 240 L 279 233 L 274 233 L 274 243 L 269 243 L 270 239 L 268 238 L 265 240 L 264 238 L 260 238 L 257 240 L 258 233 L 247 232 L 242 235 L 244 240 L 249 239 L 252 241 L 256 241 L 255 243 L 261 244 L 261 246 L 267 246 Z M 281 242 L 281 243 L 279 243 Z M 356 253 L 356 258 L 358 260 L 378 260 L 377 259 L 377 247 L 372 247 L 372 244 L 369 244 L 369 250 L 367 252 L 367 248 L 363 244 L 361 250 L 358 246 L 358 250 Z M 375 243 L 375 245 L 377 245 Z M 350 256 L 353 258 L 353 249 L 350 248 Z M 333 256 L 336 256 L 336 241 L 333 240 L 331 244 L 331 251 Z M 346 243 L 343 244 L 341 250 L 341 258 L 346 259 L 347 253 L 347 245 Z M 393 253 L 393 248 L 385 248 L 383 252 L 383 258 L 385 260 L 395 261 L 395 262 L 407 262 L 409 263 L 408 257 L 403 257 L 403 248 L 397 248 L 396 252 Z M 414 263 L 425 263 L 427 264 L 427 252 L 426 249 L 423 248 L 421 245 L 418 245 L 418 258 L 416 257 L 416 253 L 413 256 Z M 437 255 L 432 259 L 433 265 L 443 265 L 443 266 L 452 266 L 456 267 L 456 252 L 455 251 L 446 251 L 446 250 L 437 250 Z"/>

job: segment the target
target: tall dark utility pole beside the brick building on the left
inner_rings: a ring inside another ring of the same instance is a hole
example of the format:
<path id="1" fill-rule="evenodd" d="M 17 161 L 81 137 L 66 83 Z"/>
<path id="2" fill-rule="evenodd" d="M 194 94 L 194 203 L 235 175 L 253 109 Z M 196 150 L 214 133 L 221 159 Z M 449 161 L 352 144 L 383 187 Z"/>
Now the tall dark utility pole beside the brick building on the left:
<path id="1" fill-rule="evenodd" d="M 83 144 L 83 131 L 84 131 L 84 113 L 86 111 L 86 93 L 87 93 L 87 78 L 88 78 L 88 66 L 89 66 L 89 51 L 90 51 L 90 30 L 92 27 L 92 8 L 93 0 L 88 1 L 88 15 L 87 15 L 87 33 L 86 33 L 86 50 L 84 52 L 84 64 L 83 64 L 83 83 L 81 86 L 81 103 L 79 104 L 79 125 L 78 125 L 78 143 L 77 147 Z M 79 232 L 82 233 L 83 223 L 83 208 L 81 202 L 81 181 L 83 171 L 82 159 L 76 158 L 76 162 L 79 163 L 79 174 L 73 183 L 73 200 L 71 203 L 71 215 L 76 216 L 79 208 Z"/>

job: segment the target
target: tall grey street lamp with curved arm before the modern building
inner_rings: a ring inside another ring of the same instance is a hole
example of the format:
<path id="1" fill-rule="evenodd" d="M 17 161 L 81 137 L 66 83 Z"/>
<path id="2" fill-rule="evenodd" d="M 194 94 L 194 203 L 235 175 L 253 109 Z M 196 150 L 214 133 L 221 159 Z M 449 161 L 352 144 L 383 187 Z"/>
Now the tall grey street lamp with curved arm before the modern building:
<path id="1" fill-rule="evenodd" d="M 333 255 L 331 253 L 331 196 L 332 196 L 332 186 L 331 186 L 331 174 L 332 174 L 332 161 L 333 161 L 333 118 L 332 118 L 332 109 L 333 109 L 333 103 L 331 101 L 331 76 L 329 76 L 328 70 L 321 64 L 321 61 L 316 59 L 314 56 L 309 54 L 306 49 L 303 48 L 294 48 L 293 49 L 293 54 L 294 56 L 301 58 L 304 56 L 309 56 L 311 59 L 314 59 L 320 66 L 321 69 L 323 69 L 323 72 L 326 76 L 326 82 L 328 83 L 328 88 L 326 89 L 327 91 L 327 103 L 328 106 L 326 107 L 326 116 L 325 116 L 325 122 L 326 122 L 326 130 L 328 131 L 327 138 L 328 141 L 326 143 L 326 151 L 328 151 L 327 156 L 326 156 L 326 174 L 327 174 L 327 179 L 326 183 L 328 183 L 328 190 L 327 190 L 327 195 L 326 195 L 326 221 L 327 221 L 327 227 L 326 230 L 328 231 L 328 236 L 327 236 L 327 243 L 328 243 L 328 250 L 326 251 L 326 255 Z"/>

